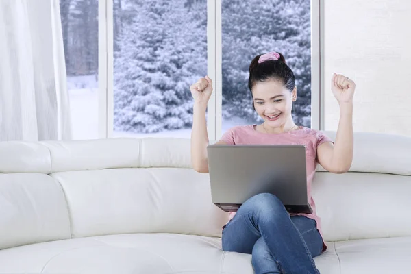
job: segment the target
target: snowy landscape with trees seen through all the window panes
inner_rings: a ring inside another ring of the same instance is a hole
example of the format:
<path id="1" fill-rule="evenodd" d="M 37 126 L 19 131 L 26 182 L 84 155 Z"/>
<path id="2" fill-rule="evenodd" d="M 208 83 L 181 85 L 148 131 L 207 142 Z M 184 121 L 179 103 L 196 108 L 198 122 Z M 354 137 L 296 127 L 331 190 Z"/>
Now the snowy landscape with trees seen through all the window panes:
<path id="1" fill-rule="evenodd" d="M 98 138 L 97 0 L 61 0 L 73 138 Z M 207 73 L 206 0 L 114 0 L 114 137 L 190 138 L 189 86 Z M 65 13 L 64 13 L 65 12 Z M 248 66 L 279 51 L 295 72 L 296 123 L 310 127 L 310 1 L 222 1 L 223 128 L 260 123 Z M 247 20 L 245 20 L 247 18 Z"/>

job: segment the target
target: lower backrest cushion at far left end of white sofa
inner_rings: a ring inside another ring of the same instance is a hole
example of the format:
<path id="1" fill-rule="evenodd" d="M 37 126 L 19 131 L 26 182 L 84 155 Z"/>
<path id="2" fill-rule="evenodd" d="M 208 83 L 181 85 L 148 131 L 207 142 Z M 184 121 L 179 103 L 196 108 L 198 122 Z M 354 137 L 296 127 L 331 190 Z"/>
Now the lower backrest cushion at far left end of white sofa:
<path id="1" fill-rule="evenodd" d="M 67 238 L 69 212 L 55 179 L 38 173 L 0 174 L 0 249 Z"/>

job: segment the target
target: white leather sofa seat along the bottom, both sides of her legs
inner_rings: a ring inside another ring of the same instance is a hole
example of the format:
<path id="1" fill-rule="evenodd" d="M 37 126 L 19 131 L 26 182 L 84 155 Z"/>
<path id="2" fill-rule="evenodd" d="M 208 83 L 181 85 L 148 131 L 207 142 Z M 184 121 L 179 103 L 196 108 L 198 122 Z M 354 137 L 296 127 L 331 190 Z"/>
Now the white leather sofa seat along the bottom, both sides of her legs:
<path id="1" fill-rule="evenodd" d="M 411 237 L 329 242 L 314 258 L 321 273 L 409 270 Z M 251 256 L 221 250 L 221 239 L 123 234 L 43 242 L 0 251 L 0 273 L 253 274 Z"/>

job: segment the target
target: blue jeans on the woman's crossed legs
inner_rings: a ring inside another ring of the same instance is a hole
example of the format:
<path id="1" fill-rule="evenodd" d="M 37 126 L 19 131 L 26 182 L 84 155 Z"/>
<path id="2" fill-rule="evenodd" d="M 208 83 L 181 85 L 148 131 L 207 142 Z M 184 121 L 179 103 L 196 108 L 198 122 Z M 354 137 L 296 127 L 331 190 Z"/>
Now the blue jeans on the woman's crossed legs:
<path id="1" fill-rule="evenodd" d="M 320 273 L 312 259 L 323 251 L 316 221 L 291 216 L 275 195 L 262 193 L 240 206 L 223 229 L 223 250 L 251 254 L 256 274 Z"/>

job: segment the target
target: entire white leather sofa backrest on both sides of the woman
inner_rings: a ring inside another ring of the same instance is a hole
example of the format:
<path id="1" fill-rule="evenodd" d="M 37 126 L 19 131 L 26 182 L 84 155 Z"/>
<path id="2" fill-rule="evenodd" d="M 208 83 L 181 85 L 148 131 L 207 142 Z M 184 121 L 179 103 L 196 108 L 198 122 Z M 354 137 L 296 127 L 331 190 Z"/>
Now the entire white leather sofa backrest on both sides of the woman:
<path id="1" fill-rule="evenodd" d="M 411 138 L 356 133 L 354 151 L 351 172 L 319 166 L 314 178 L 325 240 L 410 236 Z M 0 142 L 0 155 L 0 249 L 103 234 L 221 236 L 227 221 L 208 174 L 191 169 L 188 139 Z"/>

